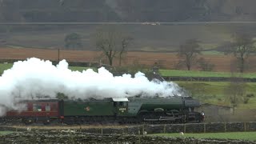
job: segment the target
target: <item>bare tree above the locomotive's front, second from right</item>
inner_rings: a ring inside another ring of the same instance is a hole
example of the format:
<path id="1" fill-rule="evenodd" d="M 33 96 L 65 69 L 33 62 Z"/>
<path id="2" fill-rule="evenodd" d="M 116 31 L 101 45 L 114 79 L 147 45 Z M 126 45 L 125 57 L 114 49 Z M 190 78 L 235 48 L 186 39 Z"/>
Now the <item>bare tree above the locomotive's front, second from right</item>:
<path id="1" fill-rule="evenodd" d="M 184 63 L 187 70 L 197 62 L 198 54 L 201 54 L 202 48 L 199 46 L 199 41 L 196 39 L 189 39 L 179 47 L 178 57 L 184 58 Z"/>

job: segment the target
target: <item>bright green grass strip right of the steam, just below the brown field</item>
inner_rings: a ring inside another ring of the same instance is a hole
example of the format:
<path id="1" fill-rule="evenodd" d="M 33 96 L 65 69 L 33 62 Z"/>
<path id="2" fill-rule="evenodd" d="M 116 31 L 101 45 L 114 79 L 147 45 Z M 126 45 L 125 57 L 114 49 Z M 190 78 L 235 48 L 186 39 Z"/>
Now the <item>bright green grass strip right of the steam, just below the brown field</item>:
<path id="1" fill-rule="evenodd" d="M 224 72 L 210 72 L 210 71 L 193 71 L 193 70 L 159 70 L 159 73 L 164 77 L 224 77 L 230 78 L 232 74 Z M 240 76 L 240 73 L 234 74 Z M 242 74 L 243 78 L 256 78 L 256 73 Z"/>

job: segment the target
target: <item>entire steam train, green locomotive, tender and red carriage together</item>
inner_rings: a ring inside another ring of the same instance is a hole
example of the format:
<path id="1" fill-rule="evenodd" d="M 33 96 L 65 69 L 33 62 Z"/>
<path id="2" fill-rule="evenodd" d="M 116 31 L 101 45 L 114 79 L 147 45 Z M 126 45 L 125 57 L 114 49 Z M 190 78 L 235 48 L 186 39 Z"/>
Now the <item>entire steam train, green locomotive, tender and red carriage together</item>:
<path id="1" fill-rule="evenodd" d="M 194 111 L 200 103 L 190 97 L 38 99 L 20 103 L 25 105 L 24 110 L 7 111 L 6 115 L 0 118 L 0 123 L 155 124 L 203 121 L 203 115 Z"/>

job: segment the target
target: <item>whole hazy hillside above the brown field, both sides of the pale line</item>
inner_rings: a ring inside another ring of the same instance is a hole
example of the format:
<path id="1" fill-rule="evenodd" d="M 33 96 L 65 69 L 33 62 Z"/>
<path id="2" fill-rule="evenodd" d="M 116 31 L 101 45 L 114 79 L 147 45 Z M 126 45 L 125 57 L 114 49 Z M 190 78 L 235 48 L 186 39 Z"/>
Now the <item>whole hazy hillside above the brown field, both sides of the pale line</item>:
<path id="1" fill-rule="evenodd" d="M 254 4 L 254 0 L 1 0 L 0 22 L 245 22 L 256 21 Z M 91 35 L 100 26 L 2 24 L 0 47 L 63 48 L 66 34 L 78 33 L 82 50 L 96 50 Z M 129 50 L 138 51 L 173 52 L 190 38 L 197 38 L 204 50 L 213 50 L 230 41 L 234 32 L 256 34 L 254 23 L 115 26 L 134 38 Z"/>

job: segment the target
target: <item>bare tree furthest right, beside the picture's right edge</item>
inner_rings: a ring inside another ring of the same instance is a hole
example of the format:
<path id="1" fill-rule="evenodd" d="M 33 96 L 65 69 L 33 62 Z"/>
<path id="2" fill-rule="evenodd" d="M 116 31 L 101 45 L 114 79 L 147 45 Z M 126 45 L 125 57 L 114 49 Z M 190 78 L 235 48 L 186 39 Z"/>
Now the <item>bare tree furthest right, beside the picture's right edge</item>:
<path id="1" fill-rule="evenodd" d="M 246 59 L 255 51 L 254 39 L 249 34 L 234 34 L 234 42 L 227 42 L 224 45 L 224 54 L 234 54 L 238 60 L 238 69 L 243 73 L 246 66 Z"/>

